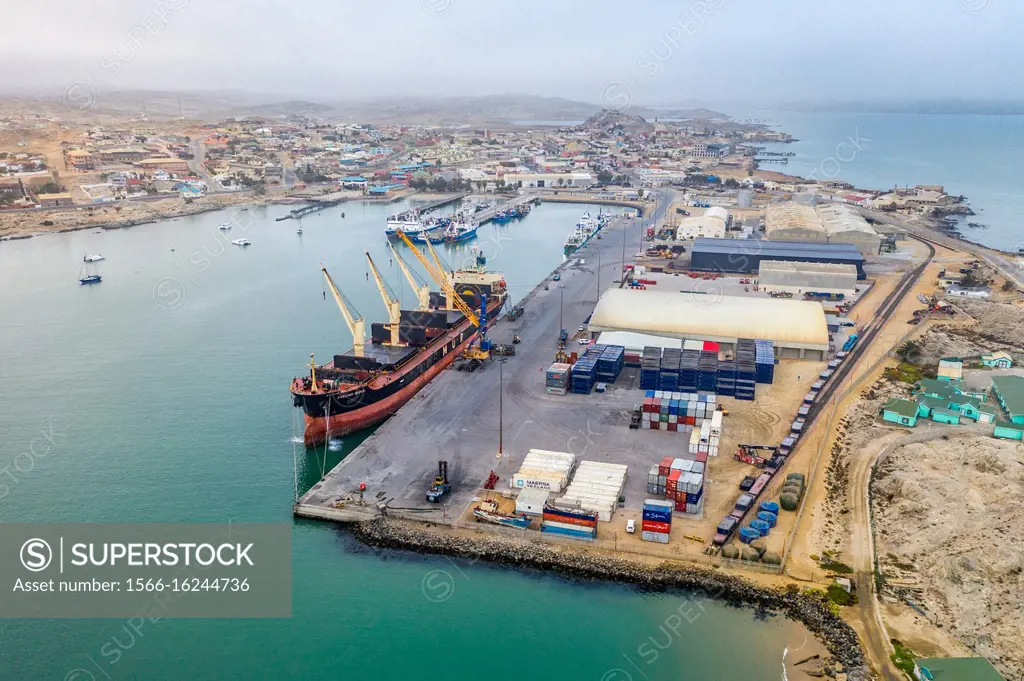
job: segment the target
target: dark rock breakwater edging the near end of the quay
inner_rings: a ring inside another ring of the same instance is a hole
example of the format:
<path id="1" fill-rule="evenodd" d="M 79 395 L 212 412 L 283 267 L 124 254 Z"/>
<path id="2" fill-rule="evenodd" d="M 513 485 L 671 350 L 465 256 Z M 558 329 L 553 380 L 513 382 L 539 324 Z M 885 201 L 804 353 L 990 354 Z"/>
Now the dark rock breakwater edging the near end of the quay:
<path id="1" fill-rule="evenodd" d="M 652 591 L 685 589 L 730 605 L 780 612 L 818 636 L 851 681 L 872 678 L 853 628 L 833 613 L 826 600 L 814 596 L 762 587 L 721 570 L 670 563 L 646 565 L 570 547 L 427 531 L 400 520 L 367 520 L 356 523 L 353 534 L 360 542 L 379 548 L 486 560 L 511 567 L 541 569 L 573 580 L 634 584 Z"/>

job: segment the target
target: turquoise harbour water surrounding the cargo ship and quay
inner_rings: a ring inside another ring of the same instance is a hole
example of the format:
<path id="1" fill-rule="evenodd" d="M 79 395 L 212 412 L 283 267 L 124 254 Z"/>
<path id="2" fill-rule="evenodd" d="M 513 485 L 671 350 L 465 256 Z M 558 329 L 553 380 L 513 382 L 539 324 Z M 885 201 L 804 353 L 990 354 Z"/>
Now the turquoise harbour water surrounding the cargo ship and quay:
<path id="1" fill-rule="evenodd" d="M 293 456 L 304 491 L 359 439 L 293 443 L 290 379 L 310 352 L 350 343 L 318 263 L 380 320 L 370 249 L 410 303 L 383 240 L 400 208 L 344 205 L 305 218 L 301 236 L 270 207 L 0 244 L 0 519 L 292 522 Z M 562 259 L 584 208 L 548 204 L 481 229 L 513 298 Z M 243 236 L 250 248 L 225 245 Z M 85 253 L 106 256 L 98 286 L 78 285 Z M 32 454 L 44 431 L 53 446 Z M 783 647 L 806 640 L 792 623 L 681 594 L 378 554 L 326 523 L 294 524 L 293 558 L 291 620 L 162 620 L 139 633 L 119 620 L 0 620 L 0 679 L 774 681 Z"/>

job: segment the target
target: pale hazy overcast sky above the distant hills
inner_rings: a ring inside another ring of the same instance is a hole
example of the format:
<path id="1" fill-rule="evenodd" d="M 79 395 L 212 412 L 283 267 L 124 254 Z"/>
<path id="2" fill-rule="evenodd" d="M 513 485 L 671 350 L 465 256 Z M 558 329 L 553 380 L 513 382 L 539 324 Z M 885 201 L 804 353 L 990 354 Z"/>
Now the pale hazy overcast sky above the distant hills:
<path id="1" fill-rule="evenodd" d="M 1021 0 L 5 2 L 0 89 L 1019 99 Z"/>

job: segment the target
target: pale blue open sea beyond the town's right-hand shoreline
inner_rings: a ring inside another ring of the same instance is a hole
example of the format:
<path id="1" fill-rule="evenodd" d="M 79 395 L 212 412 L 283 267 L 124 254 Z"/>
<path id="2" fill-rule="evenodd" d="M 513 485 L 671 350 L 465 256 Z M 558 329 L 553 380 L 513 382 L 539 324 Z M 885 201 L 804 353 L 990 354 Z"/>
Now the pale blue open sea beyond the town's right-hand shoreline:
<path id="1" fill-rule="evenodd" d="M 966 239 L 993 248 L 1024 247 L 1020 158 L 1024 116 L 844 114 L 729 110 L 737 120 L 772 123 L 800 141 L 767 144 L 795 152 L 790 163 L 766 170 L 855 186 L 943 184 L 966 196 L 987 228 L 961 226 Z"/>

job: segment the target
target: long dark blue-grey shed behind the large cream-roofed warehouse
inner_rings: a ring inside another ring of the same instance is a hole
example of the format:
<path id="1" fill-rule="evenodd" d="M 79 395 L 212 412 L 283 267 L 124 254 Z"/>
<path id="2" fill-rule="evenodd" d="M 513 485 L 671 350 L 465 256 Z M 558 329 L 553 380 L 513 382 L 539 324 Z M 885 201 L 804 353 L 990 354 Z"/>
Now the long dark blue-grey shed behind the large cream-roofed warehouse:
<path id="1" fill-rule="evenodd" d="M 750 274 L 757 272 L 765 260 L 853 265 L 857 279 L 866 279 L 864 256 L 852 244 L 697 239 L 690 251 L 690 269 L 696 271 Z"/>

